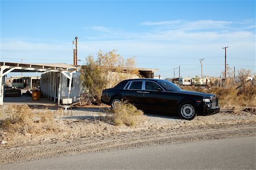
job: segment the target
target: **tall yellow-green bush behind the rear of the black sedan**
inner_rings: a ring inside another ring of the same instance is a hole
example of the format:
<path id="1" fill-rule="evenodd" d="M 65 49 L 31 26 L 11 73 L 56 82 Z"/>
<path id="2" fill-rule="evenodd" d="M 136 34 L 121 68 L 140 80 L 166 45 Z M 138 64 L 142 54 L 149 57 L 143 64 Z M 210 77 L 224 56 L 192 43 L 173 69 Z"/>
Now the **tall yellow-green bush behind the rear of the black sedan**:
<path id="1" fill-rule="evenodd" d="M 82 86 L 100 103 L 102 90 L 115 86 L 123 79 L 134 78 L 138 74 L 134 58 L 123 59 L 115 50 L 108 53 L 98 52 L 98 57 L 86 58 L 86 65 L 81 66 Z"/>

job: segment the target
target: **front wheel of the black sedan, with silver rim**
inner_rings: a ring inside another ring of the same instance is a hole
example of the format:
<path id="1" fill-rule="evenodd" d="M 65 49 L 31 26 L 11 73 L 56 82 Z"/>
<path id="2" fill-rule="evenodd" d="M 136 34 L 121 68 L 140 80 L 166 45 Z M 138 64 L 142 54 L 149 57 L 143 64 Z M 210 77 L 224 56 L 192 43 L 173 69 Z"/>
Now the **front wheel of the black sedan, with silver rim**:
<path id="1" fill-rule="evenodd" d="M 190 101 L 185 101 L 179 106 L 179 115 L 185 120 L 193 120 L 196 117 L 196 107 Z"/>

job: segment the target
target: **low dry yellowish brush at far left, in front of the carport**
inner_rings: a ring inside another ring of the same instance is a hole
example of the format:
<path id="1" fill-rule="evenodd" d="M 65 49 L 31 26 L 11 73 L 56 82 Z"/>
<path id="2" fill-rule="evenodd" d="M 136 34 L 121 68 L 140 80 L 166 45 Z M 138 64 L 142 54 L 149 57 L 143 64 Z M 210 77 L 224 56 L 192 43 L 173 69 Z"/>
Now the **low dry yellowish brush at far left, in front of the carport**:
<path id="1" fill-rule="evenodd" d="M 53 115 L 48 109 L 35 113 L 28 105 L 9 105 L 2 113 L 1 129 L 22 134 L 58 131 Z"/>

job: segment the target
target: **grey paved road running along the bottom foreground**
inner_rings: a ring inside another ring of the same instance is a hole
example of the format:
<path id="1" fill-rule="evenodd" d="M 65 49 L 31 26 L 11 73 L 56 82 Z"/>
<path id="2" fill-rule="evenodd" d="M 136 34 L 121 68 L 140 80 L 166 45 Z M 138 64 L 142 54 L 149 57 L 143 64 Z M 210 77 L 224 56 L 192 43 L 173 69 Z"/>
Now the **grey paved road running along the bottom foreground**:
<path id="1" fill-rule="evenodd" d="M 0 169 L 256 169 L 255 139 L 229 138 L 82 154 L 0 165 Z"/>

